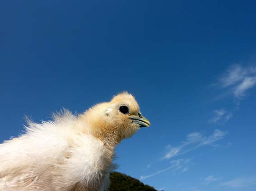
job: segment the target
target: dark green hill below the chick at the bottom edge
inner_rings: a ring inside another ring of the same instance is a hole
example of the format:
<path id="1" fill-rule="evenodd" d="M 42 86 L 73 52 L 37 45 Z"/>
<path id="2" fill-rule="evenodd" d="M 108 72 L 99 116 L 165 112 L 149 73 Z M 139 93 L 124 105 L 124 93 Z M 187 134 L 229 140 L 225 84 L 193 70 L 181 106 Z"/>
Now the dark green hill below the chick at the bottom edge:
<path id="1" fill-rule="evenodd" d="M 110 181 L 109 191 L 156 191 L 153 187 L 144 185 L 136 178 L 131 178 L 122 173 L 111 173 Z"/>

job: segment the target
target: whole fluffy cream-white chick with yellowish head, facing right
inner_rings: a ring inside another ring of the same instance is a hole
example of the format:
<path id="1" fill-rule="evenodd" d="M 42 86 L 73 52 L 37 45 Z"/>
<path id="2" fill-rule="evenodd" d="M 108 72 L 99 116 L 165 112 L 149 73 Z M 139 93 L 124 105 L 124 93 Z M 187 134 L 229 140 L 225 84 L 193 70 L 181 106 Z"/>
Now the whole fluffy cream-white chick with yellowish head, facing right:
<path id="1" fill-rule="evenodd" d="M 104 191 L 114 168 L 114 149 L 149 120 L 135 98 L 120 93 L 75 116 L 28 120 L 26 133 L 0 144 L 1 191 Z"/>

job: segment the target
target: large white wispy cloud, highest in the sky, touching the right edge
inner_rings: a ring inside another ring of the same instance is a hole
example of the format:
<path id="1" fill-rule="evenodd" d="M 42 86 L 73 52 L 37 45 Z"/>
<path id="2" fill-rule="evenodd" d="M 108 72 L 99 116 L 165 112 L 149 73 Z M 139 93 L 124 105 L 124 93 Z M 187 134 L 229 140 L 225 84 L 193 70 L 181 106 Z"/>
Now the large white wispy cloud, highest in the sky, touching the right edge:
<path id="1" fill-rule="evenodd" d="M 232 65 L 219 77 L 219 83 L 223 89 L 231 89 L 235 98 L 241 99 L 256 86 L 256 67 Z"/>

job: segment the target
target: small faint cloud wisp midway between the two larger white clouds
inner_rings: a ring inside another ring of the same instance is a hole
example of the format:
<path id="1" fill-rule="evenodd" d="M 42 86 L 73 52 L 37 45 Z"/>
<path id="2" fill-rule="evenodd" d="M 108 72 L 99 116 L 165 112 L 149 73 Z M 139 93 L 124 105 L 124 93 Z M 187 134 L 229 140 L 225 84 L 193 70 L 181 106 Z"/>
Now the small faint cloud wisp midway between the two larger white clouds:
<path id="1" fill-rule="evenodd" d="M 233 114 L 231 112 L 228 112 L 225 109 L 215 109 L 213 111 L 214 115 L 213 117 L 208 121 L 209 123 L 214 123 L 214 124 L 220 124 L 227 122 L 228 120 L 233 117 Z"/>

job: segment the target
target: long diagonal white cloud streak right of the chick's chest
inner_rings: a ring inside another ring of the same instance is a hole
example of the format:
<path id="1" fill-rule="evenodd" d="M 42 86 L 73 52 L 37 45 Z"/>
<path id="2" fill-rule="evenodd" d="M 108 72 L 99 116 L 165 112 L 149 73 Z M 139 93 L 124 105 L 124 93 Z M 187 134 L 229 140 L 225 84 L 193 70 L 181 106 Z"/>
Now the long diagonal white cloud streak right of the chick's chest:
<path id="1" fill-rule="evenodd" d="M 163 156 L 162 159 L 171 159 L 174 156 L 184 154 L 198 147 L 206 145 L 214 146 L 214 143 L 219 141 L 220 139 L 223 139 L 226 134 L 226 131 L 221 131 L 218 129 L 215 129 L 214 133 L 209 136 L 204 136 L 202 133 L 199 132 L 190 133 L 186 136 L 186 140 L 183 141 L 179 146 L 168 146 L 169 151 Z"/>

